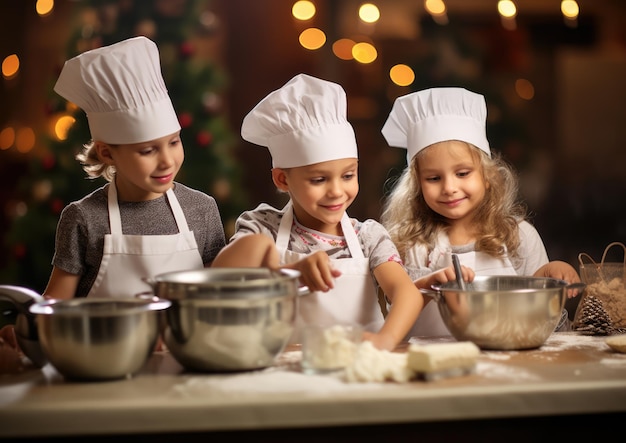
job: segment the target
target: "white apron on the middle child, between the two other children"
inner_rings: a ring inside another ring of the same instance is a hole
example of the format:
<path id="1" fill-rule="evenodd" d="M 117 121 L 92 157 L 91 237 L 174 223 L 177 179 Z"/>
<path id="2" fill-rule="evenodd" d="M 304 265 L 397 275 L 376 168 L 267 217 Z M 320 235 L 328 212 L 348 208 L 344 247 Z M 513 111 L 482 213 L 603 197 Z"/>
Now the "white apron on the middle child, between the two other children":
<path id="1" fill-rule="evenodd" d="M 276 247 L 281 263 L 291 264 L 309 254 L 288 250 L 293 207 L 289 201 L 283 208 L 283 217 L 276 235 Z M 377 331 L 384 322 L 378 304 L 376 288 L 369 269 L 369 258 L 364 257 L 356 232 L 347 213 L 341 219 L 341 229 L 352 258 L 331 259 L 331 266 L 341 271 L 335 287 L 328 292 L 311 292 L 298 298 L 298 318 L 293 343 L 301 343 L 301 331 L 307 324 L 358 323 Z"/>

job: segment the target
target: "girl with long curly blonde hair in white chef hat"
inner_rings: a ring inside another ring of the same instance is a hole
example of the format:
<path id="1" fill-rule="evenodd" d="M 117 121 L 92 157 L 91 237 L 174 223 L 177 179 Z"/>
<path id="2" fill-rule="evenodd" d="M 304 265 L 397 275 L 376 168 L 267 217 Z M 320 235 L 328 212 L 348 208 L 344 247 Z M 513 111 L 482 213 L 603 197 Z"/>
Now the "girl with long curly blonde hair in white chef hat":
<path id="1" fill-rule="evenodd" d="M 485 98 L 463 88 L 396 99 L 382 133 L 390 146 L 407 150 L 407 167 L 388 195 L 382 223 L 409 274 L 423 278 L 449 266 L 456 253 L 476 275 L 580 281 L 569 264 L 548 261 L 518 200 L 512 168 L 490 150 L 486 120 Z M 559 327 L 568 325 L 564 311 Z M 450 334 L 434 303 L 411 333 Z"/>

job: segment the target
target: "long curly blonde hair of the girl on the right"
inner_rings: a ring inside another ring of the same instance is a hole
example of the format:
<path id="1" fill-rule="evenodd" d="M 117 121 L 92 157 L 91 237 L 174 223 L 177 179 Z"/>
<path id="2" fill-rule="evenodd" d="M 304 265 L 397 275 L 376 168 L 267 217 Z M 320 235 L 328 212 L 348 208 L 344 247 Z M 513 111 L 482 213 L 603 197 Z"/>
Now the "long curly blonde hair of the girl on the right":
<path id="1" fill-rule="evenodd" d="M 474 215 L 477 231 L 476 250 L 501 257 L 508 253 L 517 257 L 520 244 L 518 223 L 526 218 L 526 206 L 519 200 L 518 181 L 512 167 L 499 155 L 489 157 L 477 147 L 465 143 L 475 164 L 489 186 L 485 198 Z M 381 222 L 389 231 L 403 259 L 415 244 L 433 248 L 440 232 L 445 232 L 448 221 L 433 211 L 424 200 L 419 177 L 417 153 L 387 195 Z"/>

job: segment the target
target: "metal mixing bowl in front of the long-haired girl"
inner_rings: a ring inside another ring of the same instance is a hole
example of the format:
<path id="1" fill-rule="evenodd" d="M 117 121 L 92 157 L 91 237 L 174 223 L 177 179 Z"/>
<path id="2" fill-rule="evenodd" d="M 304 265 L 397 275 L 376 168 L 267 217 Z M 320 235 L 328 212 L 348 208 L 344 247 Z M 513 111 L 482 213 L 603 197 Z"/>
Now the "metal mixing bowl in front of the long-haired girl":
<path id="1" fill-rule="evenodd" d="M 455 281 L 432 286 L 452 335 L 495 350 L 543 345 L 561 319 L 568 288 L 563 280 L 522 276 L 476 276 L 465 290 Z"/>

